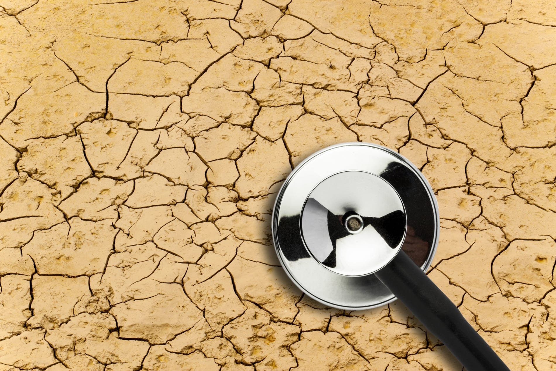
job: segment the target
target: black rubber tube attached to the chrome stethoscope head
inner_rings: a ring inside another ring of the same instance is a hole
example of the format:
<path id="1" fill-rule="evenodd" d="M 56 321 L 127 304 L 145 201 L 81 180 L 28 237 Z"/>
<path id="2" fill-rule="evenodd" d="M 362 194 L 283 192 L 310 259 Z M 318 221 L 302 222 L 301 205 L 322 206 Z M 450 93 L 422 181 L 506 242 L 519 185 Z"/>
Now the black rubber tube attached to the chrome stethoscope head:
<path id="1" fill-rule="evenodd" d="M 467 371 L 509 371 L 454 303 L 403 250 L 375 275 Z"/>

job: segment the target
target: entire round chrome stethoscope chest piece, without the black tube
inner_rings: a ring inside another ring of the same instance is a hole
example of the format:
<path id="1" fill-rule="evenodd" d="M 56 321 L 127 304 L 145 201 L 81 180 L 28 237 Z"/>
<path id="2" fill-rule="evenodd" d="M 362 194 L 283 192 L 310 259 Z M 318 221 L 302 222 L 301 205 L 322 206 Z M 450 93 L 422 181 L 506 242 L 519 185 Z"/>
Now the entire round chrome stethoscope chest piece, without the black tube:
<path id="1" fill-rule="evenodd" d="M 394 300 L 374 272 L 400 249 L 426 270 L 438 230 L 438 206 L 420 171 L 394 151 L 359 142 L 301 162 L 272 214 L 286 273 L 312 298 L 342 309 Z"/>

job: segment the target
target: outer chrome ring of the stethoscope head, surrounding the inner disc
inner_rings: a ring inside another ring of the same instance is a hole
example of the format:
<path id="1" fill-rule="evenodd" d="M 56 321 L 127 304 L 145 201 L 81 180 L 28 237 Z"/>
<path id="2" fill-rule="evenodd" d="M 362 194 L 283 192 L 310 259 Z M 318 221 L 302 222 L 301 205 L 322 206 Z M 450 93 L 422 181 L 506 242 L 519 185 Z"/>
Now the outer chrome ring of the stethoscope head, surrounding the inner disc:
<path id="1" fill-rule="evenodd" d="M 272 236 L 286 274 L 311 298 L 347 310 L 375 308 L 390 303 L 395 296 L 374 274 L 346 276 L 326 269 L 310 253 L 301 229 L 301 213 L 310 192 L 327 177 L 345 171 L 380 176 L 398 192 L 407 213 L 408 230 L 401 249 L 426 271 L 438 245 L 439 216 L 434 192 L 405 157 L 373 144 L 334 145 L 302 161 L 277 194 Z"/>

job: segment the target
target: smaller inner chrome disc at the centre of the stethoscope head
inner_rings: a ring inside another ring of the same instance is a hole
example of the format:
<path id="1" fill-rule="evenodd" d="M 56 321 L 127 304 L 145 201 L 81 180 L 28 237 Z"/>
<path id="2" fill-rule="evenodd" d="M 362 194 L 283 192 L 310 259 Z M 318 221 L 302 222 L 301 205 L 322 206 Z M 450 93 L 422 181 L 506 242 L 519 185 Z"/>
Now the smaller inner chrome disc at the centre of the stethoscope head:
<path id="1" fill-rule="evenodd" d="M 344 171 L 327 177 L 301 211 L 301 233 L 312 257 L 345 276 L 374 273 L 398 254 L 406 231 L 398 192 L 380 176 Z"/>

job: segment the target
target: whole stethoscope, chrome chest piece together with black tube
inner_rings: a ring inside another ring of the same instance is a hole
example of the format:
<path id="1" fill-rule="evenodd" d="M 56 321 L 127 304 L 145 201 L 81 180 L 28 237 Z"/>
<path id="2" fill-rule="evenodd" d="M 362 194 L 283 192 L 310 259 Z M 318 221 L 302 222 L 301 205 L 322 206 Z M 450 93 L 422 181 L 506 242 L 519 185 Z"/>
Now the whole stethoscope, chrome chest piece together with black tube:
<path id="1" fill-rule="evenodd" d="M 421 172 L 385 147 L 346 143 L 287 177 L 272 236 L 287 275 L 326 305 L 361 310 L 401 300 L 469 371 L 509 371 L 425 275 L 438 245 L 438 205 Z"/>

